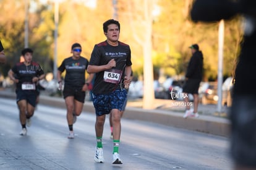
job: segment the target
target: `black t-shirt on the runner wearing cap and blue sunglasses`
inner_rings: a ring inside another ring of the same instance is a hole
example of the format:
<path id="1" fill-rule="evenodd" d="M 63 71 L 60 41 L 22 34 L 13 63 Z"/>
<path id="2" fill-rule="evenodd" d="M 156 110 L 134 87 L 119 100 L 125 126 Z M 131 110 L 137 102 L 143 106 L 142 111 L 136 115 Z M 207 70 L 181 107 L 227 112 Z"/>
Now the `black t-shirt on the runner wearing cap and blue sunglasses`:
<path id="1" fill-rule="evenodd" d="M 62 61 L 58 70 L 64 72 L 66 75 L 64 83 L 70 87 L 83 87 L 85 84 L 85 70 L 88 66 L 88 60 L 85 57 L 79 57 L 79 59 L 73 59 L 68 57 Z"/>

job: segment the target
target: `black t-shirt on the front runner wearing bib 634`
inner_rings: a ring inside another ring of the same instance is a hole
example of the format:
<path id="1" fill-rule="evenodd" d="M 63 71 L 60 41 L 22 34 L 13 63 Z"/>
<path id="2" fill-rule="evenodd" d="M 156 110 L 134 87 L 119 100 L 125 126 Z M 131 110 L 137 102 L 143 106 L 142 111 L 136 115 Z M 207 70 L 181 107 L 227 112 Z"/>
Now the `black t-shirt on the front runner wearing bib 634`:
<path id="1" fill-rule="evenodd" d="M 120 79 L 122 79 L 122 77 L 124 77 L 125 67 L 132 66 L 132 62 L 130 60 L 129 45 L 126 45 L 125 43 L 119 41 L 118 46 L 111 46 L 108 44 L 107 41 L 103 41 L 98 45 L 94 46 L 89 65 L 102 66 L 108 64 L 111 59 L 114 59 L 116 61 L 116 67 L 114 67 L 113 69 L 121 71 L 121 74 L 118 74 Z M 110 83 L 105 81 L 106 72 L 113 72 L 113 70 L 105 70 L 95 74 L 95 83 L 92 90 L 93 93 L 107 94 L 120 88 L 119 83 Z"/>

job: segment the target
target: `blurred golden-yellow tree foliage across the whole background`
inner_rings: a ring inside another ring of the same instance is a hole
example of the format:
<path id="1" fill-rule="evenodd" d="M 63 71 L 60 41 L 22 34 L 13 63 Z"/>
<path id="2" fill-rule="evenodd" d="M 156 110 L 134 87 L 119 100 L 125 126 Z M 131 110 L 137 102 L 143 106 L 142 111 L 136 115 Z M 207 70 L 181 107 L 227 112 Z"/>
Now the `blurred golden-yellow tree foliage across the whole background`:
<path id="1" fill-rule="evenodd" d="M 118 20 L 121 23 L 120 40 L 130 45 L 134 75 L 143 75 L 147 88 L 145 94 L 150 94 L 150 98 L 153 96 L 152 68 L 164 70 L 165 75 L 182 77 L 191 56 L 189 46 L 192 43 L 198 43 L 205 56 L 206 79 L 211 77 L 216 79 L 218 23 L 209 25 L 191 22 L 189 11 L 192 2 L 192 0 L 117 1 Z M 31 0 L 30 4 L 29 46 L 35 49 L 35 61 L 40 62 L 46 72 L 51 72 L 53 67 L 50 63 L 54 51 L 53 1 L 42 4 L 40 0 Z M 159 7 L 160 13 L 152 17 L 151 11 L 156 6 Z M 4 16 L 0 18 L 0 37 L 7 56 L 7 64 L 0 69 L 6 75 L 9 68 L 19 61 L 20 51 L 24 47 L 25 7 L 23 1 L 18 0 L 2 0 L 0 7 L 0 15 Z M 96 8 L 85 6 L 82 0 L 61 1 L 58 66 L 65 57 L 69 56 L 70 46 L 75 42 L 81 43 L 82 56 L 89 59 L 93 46 L 105 40 L 102 24 L 113 17 L 113 12 L 112 0 L 97 0 Z M 242 35 L 240 25 L 240 18 L 226 22 L 223 62 L 225 76 L 232 75 L 234 61 L 239 53 Z M 153 106 L 149 101 L 147 103 Z"/>

